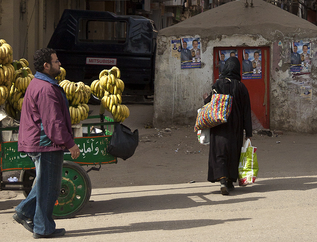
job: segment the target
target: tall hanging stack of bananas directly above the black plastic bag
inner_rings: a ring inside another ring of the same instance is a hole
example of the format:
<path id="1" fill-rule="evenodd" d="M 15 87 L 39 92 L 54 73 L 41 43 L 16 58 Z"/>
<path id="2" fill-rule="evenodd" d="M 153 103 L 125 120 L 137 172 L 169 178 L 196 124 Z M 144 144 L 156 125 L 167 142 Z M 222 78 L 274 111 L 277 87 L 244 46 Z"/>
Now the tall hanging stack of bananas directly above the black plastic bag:
<path id="1" fill-rule="evenodd" d="M 105 89 L 104 96 L 100 98 L 102 105 L 112 113 L 114 121 L 123 122 L 130 112 L 126 105 L 121 105 L 124 83 L 120 80 L 119 68 L 112 67 L 111 70 L 101 71 L 99 79 L 100 89 Z"/>

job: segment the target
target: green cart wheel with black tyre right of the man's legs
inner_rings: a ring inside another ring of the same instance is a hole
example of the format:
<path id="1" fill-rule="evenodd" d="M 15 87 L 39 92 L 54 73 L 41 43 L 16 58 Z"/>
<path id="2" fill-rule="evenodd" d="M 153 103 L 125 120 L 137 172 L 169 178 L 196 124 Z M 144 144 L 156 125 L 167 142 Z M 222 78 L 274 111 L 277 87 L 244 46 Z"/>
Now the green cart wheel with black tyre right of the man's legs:
<path id="1" fill-rule="evenodd" d="M 53 210 L 53 219 L 73 218 L 85 206 L 91 195 L 90 178 L 80 165 L 64 161 L 61 193 Z"/>

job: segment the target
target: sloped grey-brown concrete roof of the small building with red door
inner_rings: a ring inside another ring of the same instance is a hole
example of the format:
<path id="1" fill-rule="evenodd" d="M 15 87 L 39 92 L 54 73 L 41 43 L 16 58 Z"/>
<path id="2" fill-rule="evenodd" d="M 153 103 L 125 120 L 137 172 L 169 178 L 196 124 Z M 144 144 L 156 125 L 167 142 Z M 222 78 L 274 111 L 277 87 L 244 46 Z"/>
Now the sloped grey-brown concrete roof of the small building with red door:
<path id="1" fill-rule="evenodd" d="M 254 7 L 245 7 L 246 0 L 225 3 L 159 31 L 160 36 L 199 35 L 262 35 L 268 40 L 276 35 L 299 38 L 317 33 L 317 26 L 263 0 L 253 0 Z"/>

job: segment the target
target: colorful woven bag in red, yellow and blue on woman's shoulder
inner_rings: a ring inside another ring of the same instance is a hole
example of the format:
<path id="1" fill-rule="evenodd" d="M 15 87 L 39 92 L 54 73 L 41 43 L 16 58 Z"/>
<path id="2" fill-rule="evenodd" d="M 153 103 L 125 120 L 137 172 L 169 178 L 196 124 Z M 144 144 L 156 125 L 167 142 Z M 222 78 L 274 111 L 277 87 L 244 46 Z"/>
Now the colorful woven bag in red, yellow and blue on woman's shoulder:
<path id="1" fill-rule="evenodd" d="M 231 111 L 231 105 L 231 95 L 213 94 L 211 101 L 204 105 L 200 111 L 198 109 L 195 131 L 226 123 Z"/>

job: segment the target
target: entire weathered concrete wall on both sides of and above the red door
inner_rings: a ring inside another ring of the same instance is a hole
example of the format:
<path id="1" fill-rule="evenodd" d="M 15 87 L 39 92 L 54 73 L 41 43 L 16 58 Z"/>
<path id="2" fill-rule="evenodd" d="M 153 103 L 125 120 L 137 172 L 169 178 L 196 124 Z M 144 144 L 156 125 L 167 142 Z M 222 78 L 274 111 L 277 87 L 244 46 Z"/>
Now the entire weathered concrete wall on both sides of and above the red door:
<path id="1" fill-rule="evenodd" d="M 200 36 L 158 36 L 155 67 L 154 117 L 155 127 L 170 124 L 194 125 L 197 109 L 203 105 L 202 95 L 210 92 L 214 80 L 214 47 L 270 47 L 270 129 L 303 133 L 317 133 L 316 112 L 316 38 L 300 39 L 298 35 L 275 35 L 267 40 L 261 35 L 217 35 L 217 38 L 201 38 L 201 68 L 181 69 L 180 61 L 171 57 L 171 40 Z M 293 77 L 289 68 L 291 42 L 312 42 L 310 75 Z M 301 86 L 313 88 L 312 100 L 300 97 Z"/>

